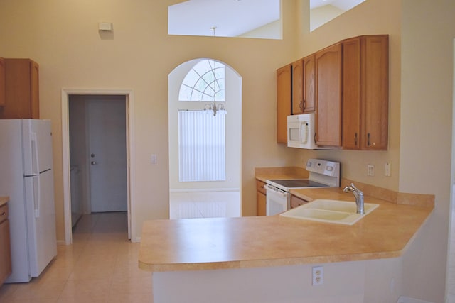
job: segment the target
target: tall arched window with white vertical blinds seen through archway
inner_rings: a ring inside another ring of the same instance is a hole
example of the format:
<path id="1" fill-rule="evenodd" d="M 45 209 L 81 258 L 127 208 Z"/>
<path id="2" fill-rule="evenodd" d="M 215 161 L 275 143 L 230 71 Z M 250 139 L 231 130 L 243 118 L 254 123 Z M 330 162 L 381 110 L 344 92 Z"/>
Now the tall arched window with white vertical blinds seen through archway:
<path id="1" fill-rule="evenodd" d="M 208 59 L 183 78 L 178 93 L 180 182 L 226 180 L 225 81 L 225 65 Z M 206 104 L 200 109 L 190 104 L 201 101 Z"/>

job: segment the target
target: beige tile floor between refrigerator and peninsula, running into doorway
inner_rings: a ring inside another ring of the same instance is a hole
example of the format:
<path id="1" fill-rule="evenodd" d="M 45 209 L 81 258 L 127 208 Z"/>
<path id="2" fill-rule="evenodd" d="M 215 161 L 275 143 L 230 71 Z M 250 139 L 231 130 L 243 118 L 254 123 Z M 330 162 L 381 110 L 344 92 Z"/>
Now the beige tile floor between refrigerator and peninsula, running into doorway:
<path id="1" fill-rule="evenodd" d="M 84 215 L 73 244 L 58 246 L 40 277 L 0 287 L 0 302 L 152 302 L 151 273 L 139 270 L 138 255 L 126 213 Z"/>

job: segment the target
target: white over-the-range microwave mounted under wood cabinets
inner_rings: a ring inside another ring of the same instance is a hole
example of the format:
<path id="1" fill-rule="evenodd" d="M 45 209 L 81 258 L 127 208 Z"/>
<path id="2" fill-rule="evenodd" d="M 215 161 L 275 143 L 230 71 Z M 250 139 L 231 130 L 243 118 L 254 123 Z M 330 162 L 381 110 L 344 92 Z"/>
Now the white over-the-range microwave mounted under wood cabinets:
<path id="1" fill-rule="evenodd" d="M 287 145 L 290 148 L 316 149 L 314 113 L 287 116 Z"/>

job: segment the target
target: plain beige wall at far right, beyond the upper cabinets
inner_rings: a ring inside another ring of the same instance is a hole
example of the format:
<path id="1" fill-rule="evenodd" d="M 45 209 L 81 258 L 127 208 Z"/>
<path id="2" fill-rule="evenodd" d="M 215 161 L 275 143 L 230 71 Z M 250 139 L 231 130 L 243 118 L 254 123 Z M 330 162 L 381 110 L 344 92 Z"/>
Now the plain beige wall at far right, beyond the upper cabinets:
<path id="1" fill-rule="evenodd" d="M 405 280 L 404 291 L 443 302 L 451 207 L 455 1 L 402 4 L 400 192 L 436 194 L 434 214 L 405 258 L 403 275 L 413 279 Z"/>

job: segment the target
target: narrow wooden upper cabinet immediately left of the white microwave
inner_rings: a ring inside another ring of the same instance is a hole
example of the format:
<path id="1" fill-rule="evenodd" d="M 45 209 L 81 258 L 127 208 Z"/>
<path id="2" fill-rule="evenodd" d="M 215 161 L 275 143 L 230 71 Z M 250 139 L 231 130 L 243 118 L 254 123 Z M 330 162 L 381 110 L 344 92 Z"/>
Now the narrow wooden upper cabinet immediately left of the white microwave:
<path id="1" fill-rule="evenodd" d="M 291 114 L 292 65 L 277 70 L 277 143 L 287 143 L 287 116 Z"/>

